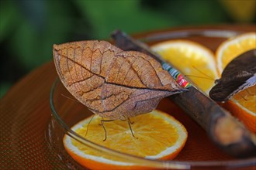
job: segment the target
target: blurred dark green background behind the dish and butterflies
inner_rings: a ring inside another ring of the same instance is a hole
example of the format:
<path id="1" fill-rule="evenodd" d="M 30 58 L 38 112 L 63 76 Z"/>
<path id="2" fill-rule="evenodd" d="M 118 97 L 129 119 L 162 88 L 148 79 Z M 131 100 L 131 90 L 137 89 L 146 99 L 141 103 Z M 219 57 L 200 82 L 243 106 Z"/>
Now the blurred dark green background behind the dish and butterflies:
<path id="1" fill-rule="evenodd" d="M 0 97 L 52 59 L 54 43 L 177 26 L 255 24 L 255 0 L 0 0 Z"/>

